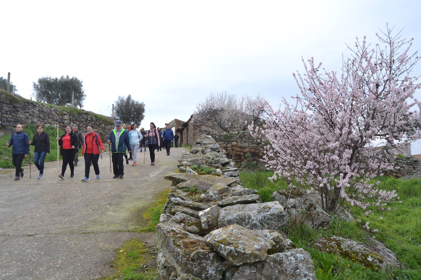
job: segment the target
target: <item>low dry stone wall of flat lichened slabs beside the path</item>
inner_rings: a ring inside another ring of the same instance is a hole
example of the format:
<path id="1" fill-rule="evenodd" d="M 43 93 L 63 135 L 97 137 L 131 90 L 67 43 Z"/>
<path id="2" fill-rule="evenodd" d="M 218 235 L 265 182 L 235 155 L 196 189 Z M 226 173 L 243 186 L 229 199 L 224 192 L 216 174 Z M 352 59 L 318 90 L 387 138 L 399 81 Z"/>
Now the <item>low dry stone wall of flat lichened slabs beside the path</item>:
<path id="1" fill-rule="evenodd" d="M 211 140 L 200 137 L 180 170 L 233 168 Z M 310 254 L 277 231 L 287 222 L 278 201 L 261 203 L 256 190 L 231 176 L 168 173 L 165 179 L 173 184 L 157 225 L 160 279 L 316 279 Z"/>

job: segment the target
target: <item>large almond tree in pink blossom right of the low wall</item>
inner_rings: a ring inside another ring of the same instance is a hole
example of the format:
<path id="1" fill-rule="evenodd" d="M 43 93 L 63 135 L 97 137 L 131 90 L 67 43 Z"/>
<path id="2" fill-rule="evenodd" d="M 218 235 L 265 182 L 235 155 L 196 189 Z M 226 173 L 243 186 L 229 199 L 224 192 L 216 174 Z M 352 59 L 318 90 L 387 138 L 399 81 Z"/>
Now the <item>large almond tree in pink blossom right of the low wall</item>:
<path id="1" fill-rule="evenodd" d="M 275 171 L 270 179 L 283 176 L 311 186 L 328 213 L 357 206 L 369 214 L 396 201 L 394 191 L 380 190 L 369 179 L 393 167 L 387 158 L 396 157 L 403 144 L 421 138 L 420 113 L 411 109 L 421 106 L 413 98 L 418 76 L 411 76 L 419 58 L 409 54 L 413 39 L 392 31 L 387 26 L 376 34 L 374 48 L 357 38 L 340 74 L 313 58 L 303 60 L 304 75 L 294 74 L 301 92 L 296 104 L 283 99 L 285 108 L 277 111 L 266 105 L 263 127 L 249 126 L 268 143 L 263 161 Z M 373 144 L 380 141 L 383 147 Z"/>

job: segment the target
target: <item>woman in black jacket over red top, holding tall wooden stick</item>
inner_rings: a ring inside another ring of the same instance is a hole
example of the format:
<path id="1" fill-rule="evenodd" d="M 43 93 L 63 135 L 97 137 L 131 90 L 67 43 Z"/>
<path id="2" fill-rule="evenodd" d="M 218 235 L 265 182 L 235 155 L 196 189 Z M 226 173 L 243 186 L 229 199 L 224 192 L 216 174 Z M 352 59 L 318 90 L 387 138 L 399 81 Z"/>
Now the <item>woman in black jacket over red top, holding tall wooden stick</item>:
<path id="1" fill-rule="evenodd" d="M 61 173 L 59 178 L 64 179 L 64 173 L 66 172 L 67 165 L 70 167 L 70 178 L 74 178 L 75 165 L 73 160 L 75 159 L 75 150 L 77 147 L 77 137 L 73 134 L 73 128 L 69 125 L 66 126 L 66 133 L 57 137 L 60 145 L 60 154 L 63 157 L 63 164 L 61 165 Z"/>

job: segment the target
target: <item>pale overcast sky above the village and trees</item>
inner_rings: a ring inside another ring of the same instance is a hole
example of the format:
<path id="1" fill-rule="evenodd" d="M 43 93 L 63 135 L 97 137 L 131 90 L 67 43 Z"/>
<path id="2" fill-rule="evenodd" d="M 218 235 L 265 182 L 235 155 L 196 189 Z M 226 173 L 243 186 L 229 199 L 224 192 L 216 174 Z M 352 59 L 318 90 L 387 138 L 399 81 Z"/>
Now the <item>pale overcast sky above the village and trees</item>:
<path id="1" fill-rule="evenodd" d="M 301 57 L 338 71 L 346 44 L 376 43 L 386 22 L 421 50 L 419 1 L 288 2 L 3 1 L 0 76 L 11 72 L 28 99 L 40 77 L 75 76 L 83 108 L 103 115 L 131 94 L 145 103 L 147 128 L 188 120 L 210 92 L 261 94 L 278 107 L 298 92 Z"/>

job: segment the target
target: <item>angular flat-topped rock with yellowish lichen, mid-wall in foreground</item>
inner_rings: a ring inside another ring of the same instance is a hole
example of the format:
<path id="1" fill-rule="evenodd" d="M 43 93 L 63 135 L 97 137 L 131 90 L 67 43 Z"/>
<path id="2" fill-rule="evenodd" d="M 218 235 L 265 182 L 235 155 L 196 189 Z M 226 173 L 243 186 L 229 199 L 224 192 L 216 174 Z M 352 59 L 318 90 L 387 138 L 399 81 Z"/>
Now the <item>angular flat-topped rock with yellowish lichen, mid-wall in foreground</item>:
<path id="1" fill-rule="evenodd" d="M 275 245 L 269 238 L 240 225 L 213 230 L 205 240 L 219 255 L 237 266 L 266 259 L 267 250 Z"/>

